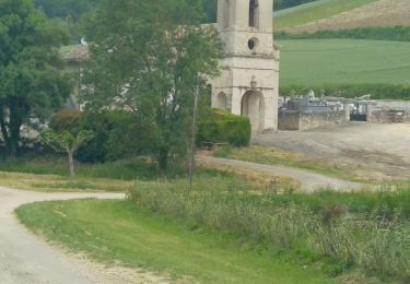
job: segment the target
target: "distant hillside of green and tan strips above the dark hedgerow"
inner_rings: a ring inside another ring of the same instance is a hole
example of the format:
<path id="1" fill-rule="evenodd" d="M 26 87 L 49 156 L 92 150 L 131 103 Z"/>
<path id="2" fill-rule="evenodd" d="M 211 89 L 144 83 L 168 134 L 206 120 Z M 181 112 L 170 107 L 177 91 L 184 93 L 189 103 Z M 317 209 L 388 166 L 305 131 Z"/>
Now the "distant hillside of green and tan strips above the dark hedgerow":
<path id="1" fill-rule="evenodd" d="M 274 13 L 276 31 L 410 26 L 410 0 L 319 0 Z"/>

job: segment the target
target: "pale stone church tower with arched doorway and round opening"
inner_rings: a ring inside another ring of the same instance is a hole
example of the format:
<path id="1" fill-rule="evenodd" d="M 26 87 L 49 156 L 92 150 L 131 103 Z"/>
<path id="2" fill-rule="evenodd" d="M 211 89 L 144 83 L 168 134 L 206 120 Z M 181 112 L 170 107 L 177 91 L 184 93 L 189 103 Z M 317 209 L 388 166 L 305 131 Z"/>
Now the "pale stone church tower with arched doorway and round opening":
<path id="1" fill-rule="evenodd" d="M 211 82 L 212 107 L 249 117 L 254 133 L 278 129 L 272 8 L 273 0 L 218 1 L 218 29 L 225 46 L 222 74 Z"/>

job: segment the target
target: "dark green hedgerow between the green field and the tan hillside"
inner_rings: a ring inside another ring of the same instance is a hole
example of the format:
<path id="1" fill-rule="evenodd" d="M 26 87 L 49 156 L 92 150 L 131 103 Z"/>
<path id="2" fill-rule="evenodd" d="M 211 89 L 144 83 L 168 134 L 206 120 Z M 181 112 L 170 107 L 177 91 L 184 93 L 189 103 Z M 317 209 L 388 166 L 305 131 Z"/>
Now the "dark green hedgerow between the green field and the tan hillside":
<path id="1" fill-rule="evenodd" d="M 276 39 L 355 38 L 371 40 L 410 42 L 409 26 L 358 27 L 353 29 L 318 31 L 316 33 L 274 33 Z"/>

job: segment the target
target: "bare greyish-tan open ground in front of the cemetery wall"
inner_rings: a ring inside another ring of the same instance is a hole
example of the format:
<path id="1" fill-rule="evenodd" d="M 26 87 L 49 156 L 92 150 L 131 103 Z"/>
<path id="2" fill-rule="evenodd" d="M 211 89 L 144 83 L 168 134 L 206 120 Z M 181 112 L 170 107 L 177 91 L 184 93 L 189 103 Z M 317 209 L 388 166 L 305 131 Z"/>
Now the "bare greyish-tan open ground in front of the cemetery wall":
<path id="1" fill-rule="evenodd" d="M 259 135 L 254 143 L 297 153 L 363 180 L 410 179 L 410 125 L 351 122 Z"/>

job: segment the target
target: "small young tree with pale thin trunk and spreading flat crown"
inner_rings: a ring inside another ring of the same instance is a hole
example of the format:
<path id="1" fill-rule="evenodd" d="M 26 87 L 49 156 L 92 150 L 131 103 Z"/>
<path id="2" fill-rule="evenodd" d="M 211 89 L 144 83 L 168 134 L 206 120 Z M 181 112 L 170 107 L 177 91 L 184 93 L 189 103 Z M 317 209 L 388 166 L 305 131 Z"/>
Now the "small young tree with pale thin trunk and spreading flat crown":
<path id="1" fill-rule="evenodd" d="M 39 141 L 54 149 L 56 152 L 65 152 L 68 156 L 70 176 L 75 176 L 74 170 L 74 154 L 79 147 L 85 142 L 92 140 L 94 137 L 93 131 L 81 130 L 77 135 L 71 134 L 68 131 L 57 133 L 52 130 L 46 130 L 39 135 Z"/>

